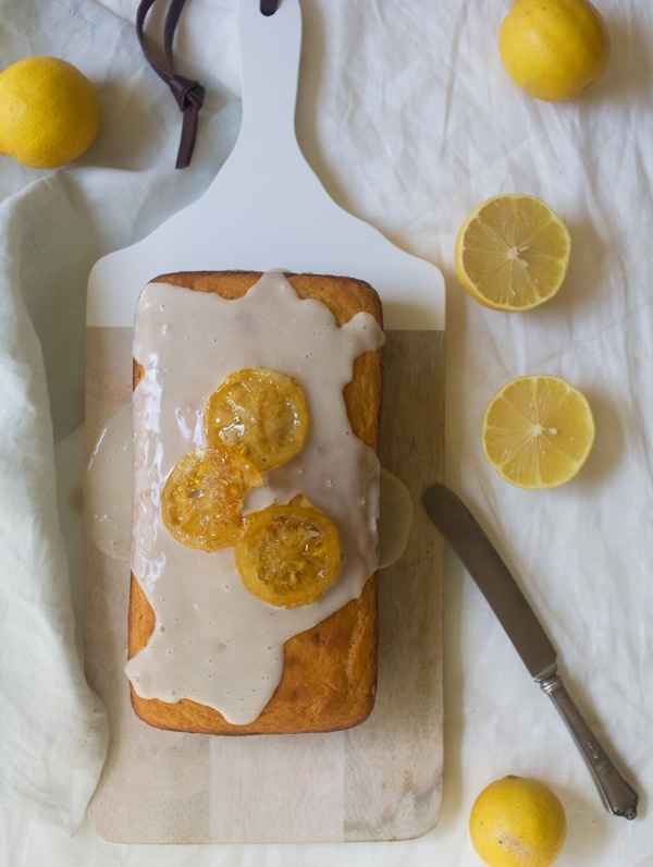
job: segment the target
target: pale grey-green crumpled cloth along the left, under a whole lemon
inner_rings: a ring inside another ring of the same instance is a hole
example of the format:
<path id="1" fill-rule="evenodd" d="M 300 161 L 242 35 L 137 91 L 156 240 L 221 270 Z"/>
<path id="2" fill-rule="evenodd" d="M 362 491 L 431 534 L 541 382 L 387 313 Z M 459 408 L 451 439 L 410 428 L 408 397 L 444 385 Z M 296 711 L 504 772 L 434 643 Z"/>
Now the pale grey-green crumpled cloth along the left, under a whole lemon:
<path id="1" fill-rule="evenodd" d="M 213 83 L 211 148 L 175 172 L 182 118 L 133 24 L 83 0 L 5 0 L 0 22 L 3 63 L 63 57 L 103 106 L 97 145 L 74 166 L 35 172 L 3 157 L 0 181 L 0 803 L 70 835 L 108 743 L 75 642 L 53 451 L 84 419 L 88 271 L 204 190 L 233 145 L 239 100 Z"/>

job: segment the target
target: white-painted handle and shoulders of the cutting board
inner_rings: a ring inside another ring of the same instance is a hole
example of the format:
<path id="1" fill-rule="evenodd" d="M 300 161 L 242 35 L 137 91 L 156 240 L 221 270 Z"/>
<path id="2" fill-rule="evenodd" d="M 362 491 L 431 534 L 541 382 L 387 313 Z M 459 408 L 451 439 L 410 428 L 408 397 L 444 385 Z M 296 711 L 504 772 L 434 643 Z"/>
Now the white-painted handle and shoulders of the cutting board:
<path id="1" fill-rule="evenodd" d="M 197 202 L 146 239 L 100 259 L 88 281 L 87 323 L 131 327 L 153 274 L 187 270 L 341 273 L 379 292 L 386 329 L 444 329 L 444 280 L 334 203 L 295 131 L 300 0 L 239 0 L 243 119 L 235 146 Z M 183 243 L 182 243 L 183 239 Z"/>

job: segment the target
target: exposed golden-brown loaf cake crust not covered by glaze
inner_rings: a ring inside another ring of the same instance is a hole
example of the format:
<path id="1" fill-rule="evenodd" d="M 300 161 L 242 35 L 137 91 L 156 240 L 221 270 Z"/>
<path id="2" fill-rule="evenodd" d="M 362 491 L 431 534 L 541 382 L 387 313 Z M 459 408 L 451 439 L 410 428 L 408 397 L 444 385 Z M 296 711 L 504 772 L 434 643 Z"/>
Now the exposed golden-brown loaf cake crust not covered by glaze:
<path id="1" fill-rule="evenodd" d="M 261 277 L 254 271 L 186 271 L 162 274 L 152 282 L 242 297 Z M 316 298 L 332 310 L 338 325 L 356 313 L 371 314 L 382 326 L 379 296 L 364 281 L 320 274 L 286 274 L 301 298 Z M 134 387 L 141 368 L 134 363 Z M 381 410 L 381 350 L 356 358 L 352 382 L 344 391 L 354 432 L 378 450 Z M 128 656 L 135 656 L 155 628 L 155 612 L 132 575 L 128 612 Z M 189 699 L 176 704 L 141 698 L 131 687 L 132 706 L 145 722 L 160 729 L 204 734 L 284 734 L 328 732 L 362 722 L 374 703 L 377 680 L 377 576 L 357 599 L 310 630 L 285 643 L 281 682 L 259 717 L 250 723 L 227 722 L 213 708 Z"/>

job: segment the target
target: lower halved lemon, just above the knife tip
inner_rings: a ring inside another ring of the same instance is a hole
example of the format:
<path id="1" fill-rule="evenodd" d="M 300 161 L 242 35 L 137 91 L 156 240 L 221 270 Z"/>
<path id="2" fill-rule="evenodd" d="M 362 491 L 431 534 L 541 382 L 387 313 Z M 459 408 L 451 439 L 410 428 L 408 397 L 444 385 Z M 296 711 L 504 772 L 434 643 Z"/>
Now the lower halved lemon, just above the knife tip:
<path id="1" fill-rule="evenodd" d="M 481 443 L 506 481 L 531 490 L 555 488 L 578 473 L 594 444 L 589 401 L 554 376 L 512 379 L 488 404 Z"/>

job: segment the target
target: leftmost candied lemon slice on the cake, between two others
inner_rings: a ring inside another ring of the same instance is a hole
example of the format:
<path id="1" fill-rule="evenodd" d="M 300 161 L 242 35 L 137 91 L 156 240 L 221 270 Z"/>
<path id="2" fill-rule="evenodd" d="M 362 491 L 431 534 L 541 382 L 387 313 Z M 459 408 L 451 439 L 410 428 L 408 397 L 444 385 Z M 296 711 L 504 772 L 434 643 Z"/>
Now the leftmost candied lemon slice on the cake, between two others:
<path id="1" fill-rule="evenodd" d="M 241 505 L 260 473 L 241 454 L 200 448 L 185 454 L 168 477 L 161 517 L 182 545 L 217 551 L 235 545 L 243 525 Z"/>

